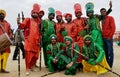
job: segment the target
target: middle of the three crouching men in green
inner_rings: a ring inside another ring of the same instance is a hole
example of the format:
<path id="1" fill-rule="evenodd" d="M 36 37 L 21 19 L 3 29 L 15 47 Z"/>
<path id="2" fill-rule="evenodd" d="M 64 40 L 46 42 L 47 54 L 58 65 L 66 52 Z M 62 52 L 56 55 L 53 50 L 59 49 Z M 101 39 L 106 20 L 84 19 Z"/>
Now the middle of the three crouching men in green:
<path id="1" fill-rule="evenodd" d="M 64 37 L 65 41 L 65 50 L 64 55 L 60 55 L 60 58 L 65 62 L 66 71 L 65 75 L 75 75 L 76 69 L 78 67 L 77 58 L 78 53 L 76 51 L 80 51 L 80 48 L 77 43 L 74 43 L 70 36 Z"/>

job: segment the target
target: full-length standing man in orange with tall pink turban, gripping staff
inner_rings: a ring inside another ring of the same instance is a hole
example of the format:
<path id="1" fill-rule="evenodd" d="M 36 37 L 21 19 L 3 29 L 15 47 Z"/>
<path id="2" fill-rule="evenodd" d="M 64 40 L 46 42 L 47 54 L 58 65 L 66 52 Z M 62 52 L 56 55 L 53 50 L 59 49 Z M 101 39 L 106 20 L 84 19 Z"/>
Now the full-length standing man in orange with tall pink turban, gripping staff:
<path id="1" fill-rule="evenodd" d="M 39 19 L 40 7 L 38 4 L 33 5 L 31 11 L 32 18 L 25 18 L 22 23 L 17 20 L 21 29 L 29 26 L 29 35 L 25 39 L 25 62 L 26 62 L 26 75 L 29 75 L 29 71 L 33 70 L 35 63 L 39 56 L 40 51 L 40 19 Z"/>

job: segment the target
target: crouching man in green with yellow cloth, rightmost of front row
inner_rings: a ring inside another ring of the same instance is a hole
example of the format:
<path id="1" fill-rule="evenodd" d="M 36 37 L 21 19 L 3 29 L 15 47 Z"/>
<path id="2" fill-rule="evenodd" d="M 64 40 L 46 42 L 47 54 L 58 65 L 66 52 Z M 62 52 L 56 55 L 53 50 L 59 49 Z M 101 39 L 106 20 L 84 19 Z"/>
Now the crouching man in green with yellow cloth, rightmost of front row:
<path id="1" fill-rule="evenodd" d="M 82 54 L 85 59 L 82 60 L 83 72 L 97 72 L 97 75 L 99 75 L 108 71 L 98 64 L 108 69 L 110 68 L 106 61 L 103 48 L 99 44 L 94 43 L 90 35 L 84 37 Z"/>

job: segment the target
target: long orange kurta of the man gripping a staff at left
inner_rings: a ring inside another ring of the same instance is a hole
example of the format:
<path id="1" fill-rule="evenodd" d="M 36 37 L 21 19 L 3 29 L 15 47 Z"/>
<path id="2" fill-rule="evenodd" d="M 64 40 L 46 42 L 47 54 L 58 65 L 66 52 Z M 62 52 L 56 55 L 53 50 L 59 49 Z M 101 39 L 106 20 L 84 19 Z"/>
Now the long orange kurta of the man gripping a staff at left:
<path id="1" fill-rule="evenodd" d="M 39 42 L 40 42 L 40 33 L 39 33 L 39 21 L 34 19 L 26 18 L 23 23 L 20 25 L 22 29 L 29 25 L 29 35 L 27 39 L 25 39 L 24 48 L 27 51 L 38 52 L 40 50 Z"/>

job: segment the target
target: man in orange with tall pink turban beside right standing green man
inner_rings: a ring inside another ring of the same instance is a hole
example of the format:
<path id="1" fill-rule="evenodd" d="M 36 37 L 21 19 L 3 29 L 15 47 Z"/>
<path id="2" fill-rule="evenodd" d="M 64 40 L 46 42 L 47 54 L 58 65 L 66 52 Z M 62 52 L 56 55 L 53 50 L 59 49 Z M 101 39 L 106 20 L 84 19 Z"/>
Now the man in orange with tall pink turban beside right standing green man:
<path id="1" fill-rule="evenodd" d="M 85 22 L 87 19 L 85 17 L 81 17 L 82 9 L 81 9 L 81 5 L 79 3 L 76 3 L 74 5 L 74 11 L 75 11 L 76 18 L 73 20 L 73 22 L 75 23 L 76 29 L 77 29 L 76 42 L 78 43 L 78 45 L 80 47 L 80 51 L 82 52 L 82 46 L 84 45 L 83 37 L 85 35 Z M 79 55 L 78 62 L 81 63 L 81 61 L 82 61 L 82 56 Z"/>

